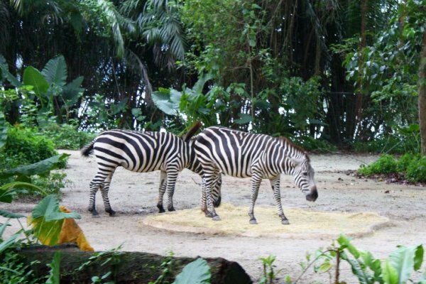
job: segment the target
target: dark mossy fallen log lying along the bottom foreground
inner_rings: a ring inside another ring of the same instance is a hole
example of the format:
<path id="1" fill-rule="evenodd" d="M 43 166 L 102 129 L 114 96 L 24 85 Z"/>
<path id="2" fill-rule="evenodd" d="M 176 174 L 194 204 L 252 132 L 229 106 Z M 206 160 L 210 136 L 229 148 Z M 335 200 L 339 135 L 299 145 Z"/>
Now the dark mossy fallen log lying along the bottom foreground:
<path id="1" fill-rule="evenodd" d="M 175 258 L 142 252 L 87 252 L 75 245 L 31 246 L 18 251 L 26 264 L 31 265 L 35 277 L 48 275 L 46 264 L 53 261 L 53 255 L 60 251 L 60 283 L 91 283 L 94 276 L 114 283 L 149 283 L 159 277 L 173 282 L 182 268 L 196 258 Z M 234 261 L 224 258 L 204 258 L 212 273 L 211 283 L 246 284 L 252 283 L 250 276 Z M 162 283 L 162 282 L 160 282 Z"/>

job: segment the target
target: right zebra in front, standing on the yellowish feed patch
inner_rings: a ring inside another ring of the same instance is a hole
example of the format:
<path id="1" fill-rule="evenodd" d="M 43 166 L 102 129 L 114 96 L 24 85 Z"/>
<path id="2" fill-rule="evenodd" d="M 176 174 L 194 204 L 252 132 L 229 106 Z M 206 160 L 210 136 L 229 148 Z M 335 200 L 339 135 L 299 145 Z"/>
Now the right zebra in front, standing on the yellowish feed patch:
<path id="1" fill-rule="evenodd" d="M 202 210 L 214 220 L 220 220 L 214 211 L 211 197 L 212 185 L 219 179 L 219 173 L 237 178 L 251 177 L 250 224 L 257 224 L 253 209 L 263 178 L 271 181 L 282 224 L 289 222 L 281 206 L 281 173 L 293 175 L 295 184 L 300 187 L 307 200 L 317 200 L 310 158 L 302 148 L 293 145 L 286 138 L 212 126 L 197 136 L 195 153 L 204 170 L 205 188 L 202 194 L 206 195 L 207 204 L 202 204 Z"/>

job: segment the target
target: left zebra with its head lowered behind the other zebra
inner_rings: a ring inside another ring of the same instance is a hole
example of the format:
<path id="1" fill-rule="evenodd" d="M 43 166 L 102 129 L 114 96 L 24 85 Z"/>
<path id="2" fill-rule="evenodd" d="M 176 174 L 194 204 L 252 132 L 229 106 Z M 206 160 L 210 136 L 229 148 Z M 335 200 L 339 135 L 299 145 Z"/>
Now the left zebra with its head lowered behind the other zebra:
<path id="1" fill-rule="evenodd" d="M 94 216 L 98 214 L 95 208 L 95 196 L 100 189 L 105 211 L 110 216 L 114 216 L 115 212 L 109 204 L 108 191 L 112 175 L 119 166 L 138 173 L 160 170 L 158 210 L 165 212 L 163 195 L 167 189 L 168 210 L 175 211 L 173 194 L 178 173 L 188 168 L 202 175 L 202 168 L 194 151 L 195 139 L 191 139 L 200 126 L 201 124 L 194 126 L 185 138 L 167 132 L 126 130 L 109 130 L 99 134 L 81 151 L 84 156 L 94 153 L 97 158 L 98 171 L 90 182 L 89 212 L 92 212 Z M 221 201 L 221 184 L 222 180 L 219 178 L 213 190 L 214 206 L 219 206 Z"/>

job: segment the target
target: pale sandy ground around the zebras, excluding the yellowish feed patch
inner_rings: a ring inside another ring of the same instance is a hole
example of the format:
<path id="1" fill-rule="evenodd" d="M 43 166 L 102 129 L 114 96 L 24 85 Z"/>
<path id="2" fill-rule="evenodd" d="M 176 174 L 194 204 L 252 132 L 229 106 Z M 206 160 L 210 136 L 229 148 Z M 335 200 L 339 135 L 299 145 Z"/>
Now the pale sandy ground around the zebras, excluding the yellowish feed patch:
<path id="1" fill-rule="evenodd" d="M 324 249 L 334 237 L 329 234 L 297 236 L 236 236 L 229 234 L 195 234 L 156 229 L 143 224 L 143 219 L 157 212 L 155 204 L 158 195 L 160 173 L 131 173 L 116 170 L 109 198 L 116 217 L 109 217 L 103 211 L 102 198 L 97 195 L 99 218 L 87 212 L 89 182 L 97 171 L 94 158 L 84 159 L 78 151 L 70 153 L 65 170 L 71 182 L 63 190 L 62 203 L 68 209 L 81 214 L 78 224 L 82 227 L 89 243 L 95 250 L 111 249 L 123 245 L 124 251 L 145 251 L 176 256 L 223 257 L 237 261 L 256 282 L 261 277 L 261 256 L 273 254 L 277 260 L 278 274 L 283 278 L 300 275 L 299 263 L 305 261 L 307 253 Z M 319 192 L 317 202 L 307 202 L 293 178 L 282 175 L 281 198 L 285 208 L 320 212 L 376 212 L 390 219 L 388 226 L 367 236 L 354 237 L 353 243 L 359 249 L 371 251 L 377 258 L 385 258 L 398 244 L 426 244 L 426 189 L 413 185 L 386 184 L 378 180 L 364 180 L 347 175 L 347 170 L 356 170 L 361 163 L 371 163 L 377 156 L 372 155 L 311 155 L 315 169 L 315 181 Z M 175 208 L 190 209 L 199 206 L 200 177 L 184 170 L 175 190 Z M 248 206 L 250 180 L 224 177 L 222 202 L 234 206 Z M 263 180 L 256 206 L 274 206 L 273 194 L 268 180 Z M 3 206 L 3 204 L 2 204 Z M 14 202 L 6 209 L 13 212 L 31 212 L 33 204 Z M 256 207 L 255 207 L 256 213 Z M 289 218 L 290 219 L 290 218 Z M 280 219 L 276 217 L 278 224 Z M 0 219 L 1 222 L 1 219 Z M 205 222 L 213 222 L 205 219 Z M 249 217 L 246 218 L 247 224 Z M 292 219 L 290 219 L 292 222 Z M 9 231 L 13 231 L 9 229 Z M 342 280 L 357 283 L 351 278 L 349 268 L 343 266 Z M 424 271 L 424 268 L 423 268 Z M 307 273 L 298 283 L 312 283 L 314 280 L 329 282 L 329 275 Z M 282 281 L 284 282 L 284 281 Z"/>

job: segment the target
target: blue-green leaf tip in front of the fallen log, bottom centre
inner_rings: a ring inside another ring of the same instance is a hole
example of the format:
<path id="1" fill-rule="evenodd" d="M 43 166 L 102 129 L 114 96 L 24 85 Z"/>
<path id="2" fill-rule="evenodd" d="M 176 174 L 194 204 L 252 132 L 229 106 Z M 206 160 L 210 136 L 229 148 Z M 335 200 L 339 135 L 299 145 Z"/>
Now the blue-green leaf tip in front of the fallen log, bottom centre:
<path id="1" fill-rule="evenodd" d="M 183 268 L 173 284 L 207 284 L 210 283 L 210 278 L 212 274 L 209 264 L 204 259 L 197 258 Z"/>

